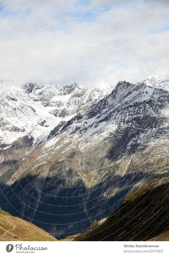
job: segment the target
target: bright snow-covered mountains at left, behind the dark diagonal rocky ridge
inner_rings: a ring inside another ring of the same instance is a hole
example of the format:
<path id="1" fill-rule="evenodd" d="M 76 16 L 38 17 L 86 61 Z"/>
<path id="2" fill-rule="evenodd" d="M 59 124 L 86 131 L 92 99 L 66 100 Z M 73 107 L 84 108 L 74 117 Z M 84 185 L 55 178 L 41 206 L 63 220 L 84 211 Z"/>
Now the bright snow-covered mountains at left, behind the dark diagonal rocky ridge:
<path id="1" fill-rule="evenodd" d="M 15 163 L 29 148 L 44 142 L 60 122 L 67 122 L 79 110 L 84 112 L 111 91 L 104 82 L 92 87 L 77 83 L 60 87 L 33 83 L 16 86 L 12 81 L 1 81 L 0 157 L 4 170 L 9 168 L 6 150 Z"/>

